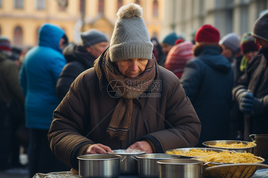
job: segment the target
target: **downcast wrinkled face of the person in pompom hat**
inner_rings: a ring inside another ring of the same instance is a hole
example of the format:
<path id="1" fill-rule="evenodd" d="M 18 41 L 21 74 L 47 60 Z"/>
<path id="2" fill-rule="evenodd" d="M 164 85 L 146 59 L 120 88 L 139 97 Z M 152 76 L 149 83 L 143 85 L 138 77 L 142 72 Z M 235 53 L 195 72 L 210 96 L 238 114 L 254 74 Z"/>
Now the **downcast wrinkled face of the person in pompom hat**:
<path id="1" fill-rule="evenodd" d="M 129 58 L 116 61 L 115 64 L 122 75 L 129 78 L 135 78 L 144 72 L 148 59 L 144 58 Z"/>

